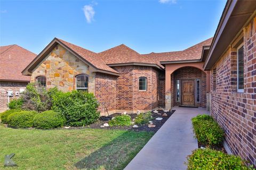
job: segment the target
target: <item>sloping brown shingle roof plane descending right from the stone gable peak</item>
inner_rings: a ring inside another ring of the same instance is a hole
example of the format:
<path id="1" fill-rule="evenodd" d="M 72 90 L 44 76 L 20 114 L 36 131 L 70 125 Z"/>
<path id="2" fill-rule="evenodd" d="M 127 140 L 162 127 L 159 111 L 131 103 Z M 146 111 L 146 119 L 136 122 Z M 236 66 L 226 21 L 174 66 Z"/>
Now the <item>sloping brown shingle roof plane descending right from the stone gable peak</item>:
<path id="1" fill-rule="evenodd" d="M 73 50 L 79 56 L 83 57 L 87 62 L 97 67 L 97 69 L 118 73 L 114 69 L 111 69 L 111 67 L 107 66 L 106 63 L 101 58 L 98 57 L 97 53 L 91 52 L 90 50 L 79 47 L 77 45 L 68 43 L 67 41 L 64 41 L 62 39 L 59 39 L 59 38 L 56 38 L 56 39 L 61 41 L 61 43 L 65 44 L 68 48 Z"/>

